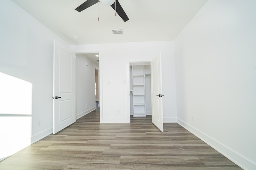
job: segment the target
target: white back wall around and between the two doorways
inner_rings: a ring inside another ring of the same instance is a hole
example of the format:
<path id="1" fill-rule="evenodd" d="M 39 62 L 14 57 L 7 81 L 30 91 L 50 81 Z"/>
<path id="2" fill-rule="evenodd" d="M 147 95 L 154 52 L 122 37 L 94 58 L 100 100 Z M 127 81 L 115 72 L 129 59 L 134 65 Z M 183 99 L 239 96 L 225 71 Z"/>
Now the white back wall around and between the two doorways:
<path id="1" fill-rule="evenodd" d="M 101 51 L 101 122 L 130 120 L 130 61 L 151 61 L 162 53 L 163 112 L 165 122 L 176 121 L 176 87 L 173 41 L 72 45 L 72 51 Z M 126 84 L 124 84 L 124 80 Z M 109 84 L 111 82 L 111 84 Z M 120 110 L 120 113 L 117 113 Z M 103 112 L 103 113 L 102 113 Z"/>

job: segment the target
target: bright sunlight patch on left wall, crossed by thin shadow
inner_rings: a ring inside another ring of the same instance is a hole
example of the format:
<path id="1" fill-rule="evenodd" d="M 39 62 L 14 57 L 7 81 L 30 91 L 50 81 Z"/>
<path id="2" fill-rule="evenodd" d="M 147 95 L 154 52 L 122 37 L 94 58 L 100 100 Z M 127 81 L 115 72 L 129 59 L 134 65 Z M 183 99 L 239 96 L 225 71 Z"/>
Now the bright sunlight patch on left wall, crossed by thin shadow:
<path id="1" fill-rule="evenodd" d="M 32 83 L 0 72 L 0 160 L 31 144 Z"/>

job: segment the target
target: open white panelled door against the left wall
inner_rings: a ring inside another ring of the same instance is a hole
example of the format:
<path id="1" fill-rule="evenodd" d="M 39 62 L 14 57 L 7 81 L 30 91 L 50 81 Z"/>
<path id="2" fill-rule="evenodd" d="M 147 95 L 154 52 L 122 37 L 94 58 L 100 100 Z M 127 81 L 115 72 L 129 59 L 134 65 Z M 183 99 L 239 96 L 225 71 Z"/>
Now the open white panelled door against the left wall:
<path id="1" fill-rule="evenodd" d="M 53 133 L 76 121 L 75 54 L 54 40 Z"/>

